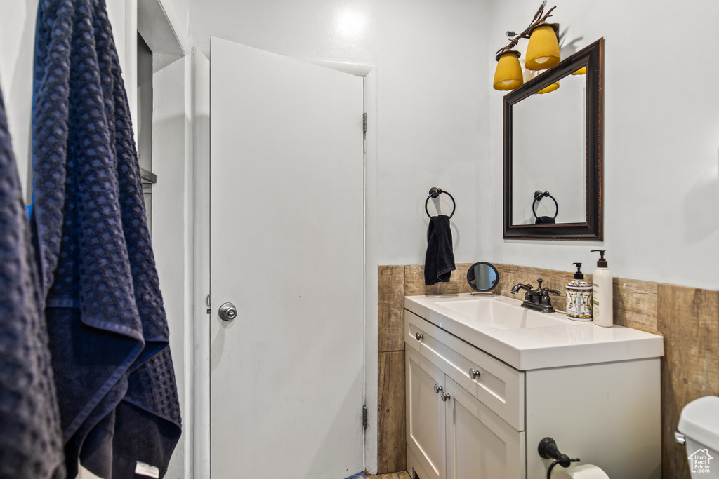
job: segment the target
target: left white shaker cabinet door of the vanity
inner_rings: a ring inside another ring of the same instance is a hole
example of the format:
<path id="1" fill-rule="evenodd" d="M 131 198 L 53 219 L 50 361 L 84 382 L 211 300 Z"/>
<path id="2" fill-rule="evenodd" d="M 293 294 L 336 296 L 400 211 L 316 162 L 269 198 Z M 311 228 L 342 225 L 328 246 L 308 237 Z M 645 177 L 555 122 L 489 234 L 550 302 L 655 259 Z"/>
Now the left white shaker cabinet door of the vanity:
<path id="1" fill-rule="evenodd" d="M 414 453 L 420 468 L 428 477 L 444 479 L 444 407 L 441 392 L 444 373 L 412 348 L 405 350 L 407 378 L 407 447 Z"/>

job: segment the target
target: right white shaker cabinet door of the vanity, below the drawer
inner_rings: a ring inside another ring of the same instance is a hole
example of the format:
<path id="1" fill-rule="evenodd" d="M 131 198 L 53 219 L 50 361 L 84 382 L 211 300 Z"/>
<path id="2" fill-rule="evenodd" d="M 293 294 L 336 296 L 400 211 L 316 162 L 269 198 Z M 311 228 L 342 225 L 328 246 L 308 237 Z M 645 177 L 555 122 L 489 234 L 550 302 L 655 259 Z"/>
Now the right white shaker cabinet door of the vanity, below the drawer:
<path id="1" fill-rule="evenodd" d="M 526 478 L 518 432 L 452 378 L 445 378 L 447 479 Z M 423 478 L 422 478 L 423 479 Z"/>

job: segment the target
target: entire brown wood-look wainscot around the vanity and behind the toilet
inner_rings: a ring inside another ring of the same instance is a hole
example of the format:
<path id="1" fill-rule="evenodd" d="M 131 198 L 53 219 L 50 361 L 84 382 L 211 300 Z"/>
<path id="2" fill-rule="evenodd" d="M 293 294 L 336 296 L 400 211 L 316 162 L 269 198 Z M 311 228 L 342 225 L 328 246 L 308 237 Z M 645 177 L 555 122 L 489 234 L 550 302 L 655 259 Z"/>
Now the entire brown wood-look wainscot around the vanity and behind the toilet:
<path id="1" fill-rule="evenodd" d="M 424 285 L 424 266 L 379 266 L 379 398 L 377 424 L 378 473 L 406 468 L 405 382 L 404 382 L 404 297 L 417 294 L 472 292 L 467 285 L 471 264 L 457 264 L 449 283 Z M 497 294 L 511 294 L 517 283 L 543 278 L 543 286 L 562 292 L 552 297 L 558 311 L 564 311 L 564 286 L 574 275 L 553 271 L 495 264 L 500 280 Z M 592 276 L 585 275 L 587 282 Z M 674 443 L 674 430 L 684 405 L 701 396 L 719 395 L 719 291 L 614 278 L 614 322 L 664 336 L 661 358 L 662 475 L 689 478 L 684 447 Z M 632 406 L 632 405 L 628 405 Z"/>

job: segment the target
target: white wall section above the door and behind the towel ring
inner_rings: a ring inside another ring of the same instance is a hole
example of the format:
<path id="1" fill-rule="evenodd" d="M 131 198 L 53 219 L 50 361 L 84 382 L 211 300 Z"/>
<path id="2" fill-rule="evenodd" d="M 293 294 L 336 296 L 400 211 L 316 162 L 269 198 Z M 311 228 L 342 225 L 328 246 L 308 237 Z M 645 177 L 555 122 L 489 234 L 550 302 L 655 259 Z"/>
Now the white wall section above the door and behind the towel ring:
<path id="1" fill-rule="evenodd" d="M 206 47 L 214 35 L 289 57 L 377 65 L 379 264 L 424 262 L 424 202 L 433 186 L 457 200 L 457 261 L 474 261 L 485 208 L 477 185 L 488 152 L 489 92 L 479 81 L 490 75 L 487 7 L 474 0 L 190 0 L 190 41 Z"/>

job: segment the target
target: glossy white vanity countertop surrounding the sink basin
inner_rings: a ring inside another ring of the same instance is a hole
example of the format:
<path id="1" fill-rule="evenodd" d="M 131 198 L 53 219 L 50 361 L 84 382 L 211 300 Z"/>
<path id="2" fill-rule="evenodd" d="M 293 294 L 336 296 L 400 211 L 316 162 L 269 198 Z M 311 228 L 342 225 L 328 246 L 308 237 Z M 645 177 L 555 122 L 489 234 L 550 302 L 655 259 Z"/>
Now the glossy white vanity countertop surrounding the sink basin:
<path id="1" fill-rule="evenodd" d="M 406 296 L 405 308 L 520 371 L 664 355 L 664 338 L 631 327 L 601 327 L 591 321 L 569 320 L 559 312 L 541 313 L 522 308 L 529 315 L 542 315 L 547 322 L 554 324 L 500 329 L 489 322 L 477 320 L 469 313 L 449 309 L 452 304 L 446 303 L 463 302 L 462 308 L 469 310 L 472 304 L 468 302 L 473 301 L 502 302 L 515 307 L 521 305 L 519 299 L 462 293 Z M 443 303 L 448 307 L 444 307 Z"/>

